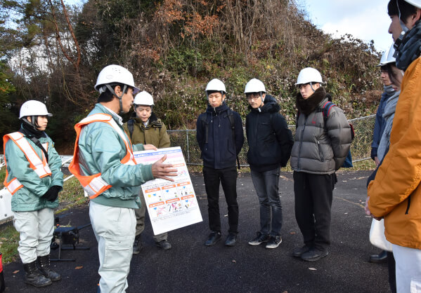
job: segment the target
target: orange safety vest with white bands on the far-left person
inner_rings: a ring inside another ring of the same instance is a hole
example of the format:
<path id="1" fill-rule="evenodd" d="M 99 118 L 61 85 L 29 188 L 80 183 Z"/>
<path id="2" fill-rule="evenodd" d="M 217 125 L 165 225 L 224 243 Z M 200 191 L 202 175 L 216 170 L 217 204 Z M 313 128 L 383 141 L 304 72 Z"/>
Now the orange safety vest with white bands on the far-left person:
<path id="1" fill-rule="evenodd" d="M 30 168 L 34 170 L 39 178 L 44 178 L 46 176 L 51 176 L 51 170 L 48 166 L 46 157 L 44 155 L 44 151 L 41 151 L 42 160 L 37 155 L 37 152 L 32 148 L 31 144 L 27 141 L 27 139 L 22 135 L 20 132 L 13 132 L 9 133 L 8 135 L 4 135 L 3 137 L 3 149 L 6 149 L 6 142 L 9 139 L 12 139 L 13 142 L 19 147 L 19 149 L 25 154 L 27 161 L 30 162 Z M 48 150 L 48 143 L 42 144 L 44 149 Z M 4 162 L 6 163 L 6 152 Z M 8 189 L 8 191 L 14 194 L 16 191 L 21 189 L 23 185 L 19 182 L 18 178 L 13 178 L 11 181 L 7 182 L 8 178 L 8 171 L 6 165 L 6 177 L 4 178 L 4 186 Z"/>

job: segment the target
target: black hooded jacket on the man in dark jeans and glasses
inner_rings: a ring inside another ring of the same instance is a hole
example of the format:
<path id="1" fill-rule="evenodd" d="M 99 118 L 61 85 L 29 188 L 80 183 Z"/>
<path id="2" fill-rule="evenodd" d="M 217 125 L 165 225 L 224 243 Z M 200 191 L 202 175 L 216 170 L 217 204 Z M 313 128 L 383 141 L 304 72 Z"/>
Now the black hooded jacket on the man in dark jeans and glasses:
<path id="1" fill-rule="evenodd" d="M 245 120 L 250 168 L 264 172 L 276 169 L 279 165 L 285 167 L 294 144 L 292 132 L 279 113 L 278 102 L 271 95 L 266 95 L 264 106 L 260 109 L 252 109 Z"/>

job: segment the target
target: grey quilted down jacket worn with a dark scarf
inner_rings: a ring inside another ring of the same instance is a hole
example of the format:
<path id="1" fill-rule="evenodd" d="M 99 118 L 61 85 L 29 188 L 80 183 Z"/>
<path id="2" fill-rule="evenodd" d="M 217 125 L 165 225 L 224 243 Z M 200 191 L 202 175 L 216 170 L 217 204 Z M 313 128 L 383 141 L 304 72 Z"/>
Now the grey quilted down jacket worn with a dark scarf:
<path id="1" fill-rule="evenodd" d="M 316 90 L 305 101 L 301 94 L 297 95 L 299 114 L 290 160 L 294 171 L 332 174 L 345 161 L 351 147 L 351 127 L 342 109 L 332 107 L 325 128 L 323 105 L 328 102 L 329 97 L 323 88 Z M 300 102 L 306 103 L 304 106 L 301 103 L 302 111 Z M 308 114 L 304 114 L 305 112 Z"/>

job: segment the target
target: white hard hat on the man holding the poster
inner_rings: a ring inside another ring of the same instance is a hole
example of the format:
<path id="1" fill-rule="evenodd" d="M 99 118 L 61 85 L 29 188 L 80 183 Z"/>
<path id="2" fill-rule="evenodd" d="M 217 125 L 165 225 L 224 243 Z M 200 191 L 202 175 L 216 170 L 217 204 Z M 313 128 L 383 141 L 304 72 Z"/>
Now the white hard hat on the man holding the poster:
<path id="1" fill-rule="evenodd" d="M 105 88 L 101 86 L 111 83 L 122 83 L 133 88 L 133 94 L 138 93 L 139 89 L 134 86 L 133 74 L 129 70 L 119 65 L 108 65 L 101 70 L 96 79 L 95 90 L 102 93 Z"/>

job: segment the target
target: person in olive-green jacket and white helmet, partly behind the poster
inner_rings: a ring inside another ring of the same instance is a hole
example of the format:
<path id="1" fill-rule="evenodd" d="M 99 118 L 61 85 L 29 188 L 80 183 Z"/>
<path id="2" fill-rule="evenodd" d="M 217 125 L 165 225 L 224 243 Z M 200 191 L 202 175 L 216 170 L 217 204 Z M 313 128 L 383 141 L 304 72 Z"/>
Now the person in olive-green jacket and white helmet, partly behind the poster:
<path id="1" fill-rule="evenodd" d="M 145 91 L 134 97 L 134 116 L 124 123 L 123 128 L 130 137 L 132 144 L 153 144 L 158 149 L 170 146 L 167 128 L 160 118 L 153 113 L 153 97 Z M 135 210 L 136 238 L 134 238 L 133 254 L 141 252 L 141 233 L 145 230 L 146 203 L 143 194 L 140 195 L 141 207 Z M 168 233 L 155 235 L 153 240 L 157 247 L 169 250 L 171 243 L 167 240 Z"/>

